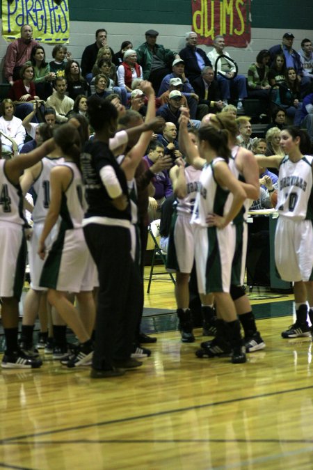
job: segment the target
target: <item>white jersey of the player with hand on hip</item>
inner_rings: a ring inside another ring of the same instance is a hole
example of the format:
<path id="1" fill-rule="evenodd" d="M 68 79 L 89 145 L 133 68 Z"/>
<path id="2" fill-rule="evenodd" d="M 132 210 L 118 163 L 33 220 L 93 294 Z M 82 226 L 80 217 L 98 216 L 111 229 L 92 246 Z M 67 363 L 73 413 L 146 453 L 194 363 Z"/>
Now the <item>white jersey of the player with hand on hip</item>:
<path id="1" fill-rule="evenodd" d="M 191 217 L 191 224 L 207 227 L 207 216 L 218 214 L 223 216 L 225 204 L 230 191 L 218 185 L 214 178 L 214 165 L 217 162 L 225 162 L 217 157 L 211 163 L 206 164 L 200 175 L 200 187 L 195 199 L 195 207 Z"/>

